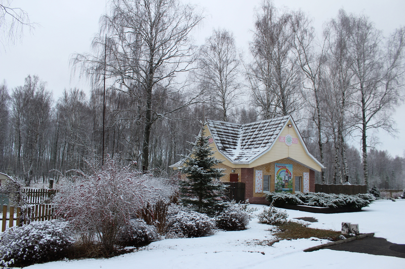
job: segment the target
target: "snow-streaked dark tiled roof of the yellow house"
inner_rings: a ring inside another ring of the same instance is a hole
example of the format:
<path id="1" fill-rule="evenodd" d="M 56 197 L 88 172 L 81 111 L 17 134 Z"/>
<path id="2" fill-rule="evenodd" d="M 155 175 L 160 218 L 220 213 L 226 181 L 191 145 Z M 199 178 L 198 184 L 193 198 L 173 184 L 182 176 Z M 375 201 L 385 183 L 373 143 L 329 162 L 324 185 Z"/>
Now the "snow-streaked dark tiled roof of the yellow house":
<path id="1" fill-rule="evenodd" d="M 207 120 L 207 125 L 218 150 L 232 163 L 250 163 L 270 148 L 290 118 L 284 116 L 249 124 Z"/>

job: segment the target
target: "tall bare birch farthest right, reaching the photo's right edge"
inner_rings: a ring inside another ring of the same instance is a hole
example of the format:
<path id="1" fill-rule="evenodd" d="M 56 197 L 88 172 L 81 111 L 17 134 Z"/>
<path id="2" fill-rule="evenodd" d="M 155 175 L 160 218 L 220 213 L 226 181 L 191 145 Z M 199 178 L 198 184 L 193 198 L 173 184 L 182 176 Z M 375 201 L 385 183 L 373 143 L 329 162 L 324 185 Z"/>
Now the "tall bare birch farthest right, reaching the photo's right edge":
<path id="1" fill-rule="evenodd" d="M 353 104 L 357 130 L 361 133 L 364 181 L 368 179 L 368 132 L 394 132 L 392 112 L 403 100 L 405 72 L 405 28 L 397 29 L 386 41 L 366 16 L 350 15 L 349 53 L 352 58 L 355 94 Z"/>

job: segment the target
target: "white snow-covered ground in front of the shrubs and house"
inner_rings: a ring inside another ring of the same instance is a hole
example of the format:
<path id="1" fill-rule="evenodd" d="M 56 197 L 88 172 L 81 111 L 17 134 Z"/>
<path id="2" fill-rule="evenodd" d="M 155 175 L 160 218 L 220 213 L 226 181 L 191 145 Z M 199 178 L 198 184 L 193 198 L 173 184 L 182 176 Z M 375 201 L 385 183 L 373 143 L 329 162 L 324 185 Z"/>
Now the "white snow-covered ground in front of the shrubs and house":
<path id="1" fill-rule="evenodd" d="M 263 208 L 262 205 L 251 205 Z M 342 222 L 358 224 L 360 233 L 375 233 L 397 244 L 405 244 L 405 200 L 375 201 L 361 212 L 321 214 L 287 210 L 289 219 L 314 217 L 311 228 L 340 231 Z M 256 211 L 257 213 L 259 211 Z M 249 229 L 239 232 L 217 232 L 213 236 L 190 239 L 166 239 L 153 242 L 129 253 L 109 259 L 83 259 L 34 264 L 25 268 L 405 268 L 405 259 L 363 253 L 321 249 L 304 249 L 328 243 L 328 240 L 282 240 L 273 246 L 272 226 L 259 224 L 253 218 Z"/>

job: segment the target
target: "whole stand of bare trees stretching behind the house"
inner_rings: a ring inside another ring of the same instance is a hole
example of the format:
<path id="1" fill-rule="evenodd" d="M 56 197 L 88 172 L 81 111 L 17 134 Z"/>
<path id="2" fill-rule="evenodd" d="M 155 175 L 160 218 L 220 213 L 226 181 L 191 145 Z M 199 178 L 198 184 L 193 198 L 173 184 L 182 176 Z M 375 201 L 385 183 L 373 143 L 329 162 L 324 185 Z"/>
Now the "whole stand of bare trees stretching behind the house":
<path id="1" fill-rule="evenodd" d="M 367 16 L 340 10 L 317 36 L 302 11 L 265 0 L 243 58 L 226 29 L 194 46 L 191 34 L 202 20 L 197 7 L 176 0 L 111 1 L 92 51 L 71 59 L 73 72 L 92 82 L 89 96 L 70 89 L 55 102 L 36 76 L 10 94 L 2 84 L 0 168 L 27 185 L 86 170 L 87 159 L 101 159 L 105 99 L 106 153 L 136 160 L 139 169 L 170 173 L 199 129 L 196 120 L 248 123 L 291 114 L 326 166 L 319 182 L 380 184 L 395 174 L 393 185 L 403 186 L 403 158 L 382 151 L 395 173 L 381 172 L 376 182 L 378 159 L 369 154 L 377 154 L 370 151 L 374 131 L 395 132 L 404 27 L 385 37 Z"/>

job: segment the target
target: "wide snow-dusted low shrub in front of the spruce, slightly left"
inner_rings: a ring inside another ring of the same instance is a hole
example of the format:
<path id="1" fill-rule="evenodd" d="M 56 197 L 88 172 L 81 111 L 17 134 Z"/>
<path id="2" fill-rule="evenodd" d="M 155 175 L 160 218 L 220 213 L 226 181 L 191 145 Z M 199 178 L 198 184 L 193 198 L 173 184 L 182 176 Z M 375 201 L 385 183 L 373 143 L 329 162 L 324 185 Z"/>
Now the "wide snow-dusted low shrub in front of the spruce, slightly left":
<path id="1" fill-rule="evenodd" d="M 169 211 L 166 238 L 191 238 L 214 234 L 214 221 L 207 214 L 187 210 L 180 206 L 171 206 Z"/>

